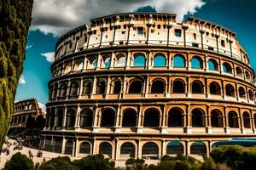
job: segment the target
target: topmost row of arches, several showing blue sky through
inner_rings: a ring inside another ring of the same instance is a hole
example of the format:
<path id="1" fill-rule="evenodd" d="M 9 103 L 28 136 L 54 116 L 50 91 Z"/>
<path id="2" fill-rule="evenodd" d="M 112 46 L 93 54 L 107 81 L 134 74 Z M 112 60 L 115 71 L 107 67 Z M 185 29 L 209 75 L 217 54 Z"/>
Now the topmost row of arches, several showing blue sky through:
<path id="1" fill-rule="evenodd" d="M 147 64 L 147 57 L 143 53 L 136 53 L 131 55 L 129 62 L 126 61 L 126 54 L 117 54 L 113 58 L 113 67 L 125 67 L 129 64 L 131 67 L 145 67 Z M 59 68 L 55 68 L 53 71 L 55 76 L 60 76 L 73 71 L 83 71 L 88 69 L 104 68 L 109 69 L 111 66 L 111 54 L 104 54 L 100 59 L 97 56 L 90 56 L 84 59 L 75 59 L 67 61 Z M 98 62 L 100 62 L 98 64 Z M 166 54 L 158 53 L 154 54 L 149 65 L 153 67 L 166 67 L 168 65 L 168 58 Z M 175 54 L 172 57 L 172 67 L 185 68 L 188 67 L 188 59 L 183 54 Z M 192 56 L 189 59 L 189 67 L 192 69 L 207 69 L 208 71 L 221 71 L 224 73 L 234 74 L 236 77 L 244 78 L 247 81 L 253 82 L 253 73 L 245 70 L 239 65 L 233 65 L 229 61 L 224 61 L 220 64 L 219 59 L 209 58 L 207 59 L 207 64 L 205 64 L 204 57 L 200 55 Z"/>

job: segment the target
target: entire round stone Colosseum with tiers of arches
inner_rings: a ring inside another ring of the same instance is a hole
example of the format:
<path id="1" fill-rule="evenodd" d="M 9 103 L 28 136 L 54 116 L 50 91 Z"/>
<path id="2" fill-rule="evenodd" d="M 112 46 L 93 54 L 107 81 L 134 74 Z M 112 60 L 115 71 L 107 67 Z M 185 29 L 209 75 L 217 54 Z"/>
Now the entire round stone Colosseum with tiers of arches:
<path id="1" fill-rule="evenodd" d="M 44 150 L 159 160 L 255 138 L 255 74 L 236 32 L 176 14 L 127 13 L 63 35 L 51 66 Z"/>

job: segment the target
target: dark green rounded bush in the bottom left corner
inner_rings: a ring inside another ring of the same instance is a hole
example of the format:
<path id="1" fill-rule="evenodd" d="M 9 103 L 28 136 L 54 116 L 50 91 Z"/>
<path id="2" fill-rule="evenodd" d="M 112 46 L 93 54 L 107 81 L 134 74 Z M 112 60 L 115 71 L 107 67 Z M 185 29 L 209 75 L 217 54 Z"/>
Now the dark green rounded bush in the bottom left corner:
<path id="1" fill-rule="evenodd" d="M 16 153 L 4 165 L 4 170 L 33 170 L 33 161 L 20 152 Z"/>

